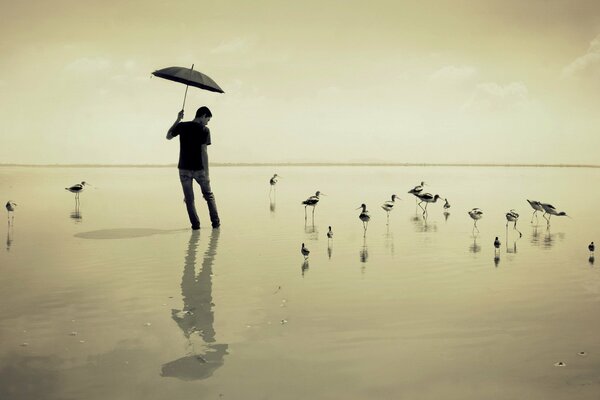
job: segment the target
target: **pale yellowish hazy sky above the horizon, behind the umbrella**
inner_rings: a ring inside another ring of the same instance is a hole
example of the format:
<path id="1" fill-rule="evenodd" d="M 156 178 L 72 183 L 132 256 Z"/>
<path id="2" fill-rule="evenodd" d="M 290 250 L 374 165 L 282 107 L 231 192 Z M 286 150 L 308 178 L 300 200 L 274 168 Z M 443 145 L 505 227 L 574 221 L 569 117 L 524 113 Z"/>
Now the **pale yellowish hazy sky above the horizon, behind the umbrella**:
<path id="1" fill-rule="evenodd" d="M 0 164 L 600 164 L 598 1 L 0 0 Z"/>

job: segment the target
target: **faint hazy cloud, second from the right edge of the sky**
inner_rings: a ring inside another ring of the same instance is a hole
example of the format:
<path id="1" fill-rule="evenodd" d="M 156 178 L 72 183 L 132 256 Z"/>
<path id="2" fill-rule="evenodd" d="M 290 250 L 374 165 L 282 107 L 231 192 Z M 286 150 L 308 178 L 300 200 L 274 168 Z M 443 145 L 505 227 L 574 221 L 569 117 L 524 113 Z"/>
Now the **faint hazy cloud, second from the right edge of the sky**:
<path id="1" fill-rule="evenodd" d="M 531 103 L 529 90 L 523 82 L 501 85 L 484 82 L 477 85 L 464 110 L 508 110 L 525 108 Z"/>

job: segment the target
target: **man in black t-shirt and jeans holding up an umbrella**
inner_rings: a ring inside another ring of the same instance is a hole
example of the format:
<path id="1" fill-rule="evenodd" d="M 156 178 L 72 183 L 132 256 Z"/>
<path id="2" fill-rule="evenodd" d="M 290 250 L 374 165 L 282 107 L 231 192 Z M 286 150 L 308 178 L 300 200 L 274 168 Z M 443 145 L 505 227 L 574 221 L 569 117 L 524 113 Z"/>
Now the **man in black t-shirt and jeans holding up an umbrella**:
<path id="1" fill-rule="evenodd" d="M 192 121 L 181 122 L 183 110 L 177 114 L 177 120 L 169 128 L 167 139 L 171 140 L 179 136 L 179 179 L 185 196 L 185 204 L 192 229 L 200 229 L 200 219 L 196 213 L 194 204 L 194 180 L 200 185 L 202 196 L 208 205 L 208 213 L 213 228 L 221 225 L 215 196 L 210 189 L 210 178 L 208 174 L 208 152 L 206 146 L 210 144 L 210 130 L 206 126 L 210 121 L 212 113 L 208 107 L 200 107 L 196 111 L 196 117 Z"/>

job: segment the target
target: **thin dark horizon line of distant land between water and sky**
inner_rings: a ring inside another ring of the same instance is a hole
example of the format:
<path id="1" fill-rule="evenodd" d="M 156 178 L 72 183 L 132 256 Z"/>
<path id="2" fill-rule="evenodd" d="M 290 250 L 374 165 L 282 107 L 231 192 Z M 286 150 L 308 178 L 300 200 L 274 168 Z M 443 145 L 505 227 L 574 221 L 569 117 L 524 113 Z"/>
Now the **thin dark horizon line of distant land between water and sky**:
<path id="1" fill-rule="evenodd" d="M 520 167 L 520 168 L 600 168 L 597 164 L 524 163 L 386 163 L 386 162 L 272 162 L 211 163 L 213 167 Z M 46 168 L 173 168 L 177 164 L 20 164 L 0 163 L 0 167 Z"/>

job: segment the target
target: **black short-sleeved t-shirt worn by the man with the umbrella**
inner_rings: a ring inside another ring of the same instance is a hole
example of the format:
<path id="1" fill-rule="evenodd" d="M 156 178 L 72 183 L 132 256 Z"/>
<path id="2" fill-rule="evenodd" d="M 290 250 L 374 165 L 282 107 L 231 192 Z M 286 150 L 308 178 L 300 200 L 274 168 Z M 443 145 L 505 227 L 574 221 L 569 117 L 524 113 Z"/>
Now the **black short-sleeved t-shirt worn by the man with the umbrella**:
<path id="1" fill-rule="evenodd" d="M 179 169 L 201 170 L 203 144 L 210 144 L 210 130 L 197 122 L 180 122 L 172 132 L 179 136 Z"/>

